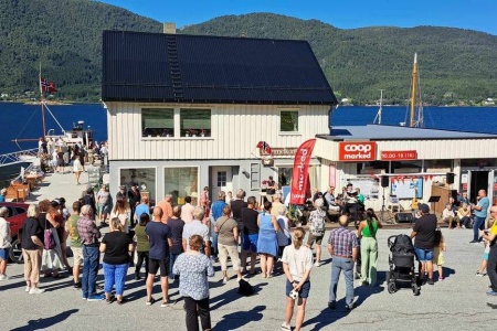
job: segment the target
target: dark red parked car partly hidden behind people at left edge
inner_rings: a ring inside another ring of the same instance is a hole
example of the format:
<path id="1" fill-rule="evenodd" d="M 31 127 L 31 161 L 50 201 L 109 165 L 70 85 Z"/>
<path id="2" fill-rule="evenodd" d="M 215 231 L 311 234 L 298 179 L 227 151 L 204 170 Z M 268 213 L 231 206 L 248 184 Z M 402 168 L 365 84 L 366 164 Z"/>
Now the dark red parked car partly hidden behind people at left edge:
<path id="1" fill-rule="evenodd" d="M 7 222 L 10 223 L 12 235 L 12 248 L 10 249 L 10 259 L 14 263 L 22 263 L 21 236 L 20 231 L 27 218 L 28 204 L 17 202 L 0 202 L 0 207 L 6 206 L 9 210 Z"/>

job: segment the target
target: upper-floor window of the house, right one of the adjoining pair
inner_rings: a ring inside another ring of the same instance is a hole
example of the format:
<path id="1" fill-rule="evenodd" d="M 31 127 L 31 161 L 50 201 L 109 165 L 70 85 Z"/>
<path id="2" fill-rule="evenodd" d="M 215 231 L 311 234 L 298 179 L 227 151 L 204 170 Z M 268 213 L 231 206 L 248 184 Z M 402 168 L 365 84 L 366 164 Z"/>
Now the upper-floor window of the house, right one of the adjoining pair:
<path id="1" fill-rule="evenodd" d="M 211 137 L 210 109 L 181 109 L 181 137 Z"/>

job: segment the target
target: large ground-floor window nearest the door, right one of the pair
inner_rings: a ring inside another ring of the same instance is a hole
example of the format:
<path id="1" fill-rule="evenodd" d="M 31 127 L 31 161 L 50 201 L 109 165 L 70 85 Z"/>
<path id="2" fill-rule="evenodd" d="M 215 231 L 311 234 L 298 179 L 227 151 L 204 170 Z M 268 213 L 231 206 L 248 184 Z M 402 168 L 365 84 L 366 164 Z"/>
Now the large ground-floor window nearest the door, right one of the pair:
<path id="1" fill-rule="evenodd" d="M 165 168 L 165 195 L 171 194 L 173 204 L 184 204 L 184 197 L 191 196 L 191 204 L 197 205 L 199 168 Z"/>

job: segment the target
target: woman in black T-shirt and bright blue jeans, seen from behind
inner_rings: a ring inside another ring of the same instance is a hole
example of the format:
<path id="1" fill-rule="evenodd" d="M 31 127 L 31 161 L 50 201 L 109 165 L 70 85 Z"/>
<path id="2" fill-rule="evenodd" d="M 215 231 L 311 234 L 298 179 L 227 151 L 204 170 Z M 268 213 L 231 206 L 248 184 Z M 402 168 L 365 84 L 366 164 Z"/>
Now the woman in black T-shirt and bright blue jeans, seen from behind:
<path id="1" fill-rule="evenodd" d="M 101 253 L 104 253 L 104 291 L 105 301 L 110 303 L 112 290 L 116 286 L 116 299 L 118 305 L 123 305 L 124 287 L 128 261 L 133 256 L 133 242 L 124 232 L 120 220 L 114 217 L 109 222 L 110 232 L 102 238 Z"/>

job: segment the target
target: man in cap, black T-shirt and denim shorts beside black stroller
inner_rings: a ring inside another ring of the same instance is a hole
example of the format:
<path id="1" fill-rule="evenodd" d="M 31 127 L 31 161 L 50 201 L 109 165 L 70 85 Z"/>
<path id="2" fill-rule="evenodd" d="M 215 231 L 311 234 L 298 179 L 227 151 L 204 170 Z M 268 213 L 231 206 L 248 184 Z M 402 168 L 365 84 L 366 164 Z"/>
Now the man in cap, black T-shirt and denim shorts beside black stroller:
<path id="1" fill-rule="evenodd" d="M 420 282 L 424 284 L 427 273 L 427 284 L 433 285 L 433 248 L 435 247 L 436 216 L 430 214 L 430 206 L 420 204 L 421 217 L 414 223 L 411 238 L 414 238 L 414 249 L 420 261 Z"/>

